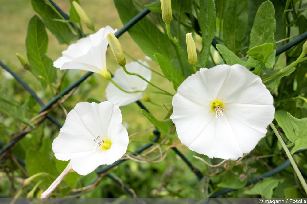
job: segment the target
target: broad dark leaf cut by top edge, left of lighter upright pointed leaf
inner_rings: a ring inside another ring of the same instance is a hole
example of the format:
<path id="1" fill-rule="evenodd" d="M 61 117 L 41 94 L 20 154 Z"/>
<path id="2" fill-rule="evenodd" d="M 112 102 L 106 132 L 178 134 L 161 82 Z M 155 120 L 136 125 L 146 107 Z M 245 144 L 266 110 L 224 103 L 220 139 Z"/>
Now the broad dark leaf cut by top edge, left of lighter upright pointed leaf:
<path id="1" fill-rule="evenodd" d="M 223 37 L 224 45 L 235 54 L 243 50 L 247 20 L 247 0 L 230 0 L 224 16 Z"/>

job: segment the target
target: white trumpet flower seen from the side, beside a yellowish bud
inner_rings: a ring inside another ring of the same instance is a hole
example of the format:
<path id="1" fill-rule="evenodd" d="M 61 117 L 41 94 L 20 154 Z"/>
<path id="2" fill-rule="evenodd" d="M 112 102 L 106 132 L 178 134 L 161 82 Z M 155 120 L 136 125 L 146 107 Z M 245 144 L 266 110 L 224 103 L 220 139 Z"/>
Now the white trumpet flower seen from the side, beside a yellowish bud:
<path id="1" fill-rule="evenodd" d="M 117 29 L 110 26 L 100 28 L 94 34 L 81 38 L 68 46 L 62 57 L 54 61 L 53 66 L 60 69 L 81 69 L 100 73 L 106 69 L 107 32 L 115 33 Z"/>

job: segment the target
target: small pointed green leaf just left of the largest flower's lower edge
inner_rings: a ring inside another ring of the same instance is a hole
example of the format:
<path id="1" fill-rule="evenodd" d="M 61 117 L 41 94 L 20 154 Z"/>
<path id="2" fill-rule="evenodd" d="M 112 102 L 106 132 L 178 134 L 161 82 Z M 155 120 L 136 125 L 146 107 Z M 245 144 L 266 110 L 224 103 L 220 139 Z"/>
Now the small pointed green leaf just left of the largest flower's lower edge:
<path id="1" fill-rule="evenodd" d="M 173 126 L 173 122 L 172 121 L 159 121 L 156 118 L 154 118 L 150 113 L 148 113 L 146 110 L 142 109 L 141 113 L 144 114 L 147 119 L 158 128 L 159 132 L 161 132 L 162 134 L 168 136 L 169 138 L 173 138 L 173 139 L 178 139 L 175 135 L 170 134 L 170 130 Z"/>

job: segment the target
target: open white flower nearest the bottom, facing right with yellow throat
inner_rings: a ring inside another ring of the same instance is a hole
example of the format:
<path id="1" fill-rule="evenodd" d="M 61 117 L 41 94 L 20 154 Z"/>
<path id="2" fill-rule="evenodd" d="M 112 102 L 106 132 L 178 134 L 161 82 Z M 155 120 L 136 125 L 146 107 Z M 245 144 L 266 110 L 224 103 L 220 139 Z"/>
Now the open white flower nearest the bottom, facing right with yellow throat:
<path id="1" fill-rule="evenodd" d="M 126 153 L 129 143 L 118 106 L 80 102 L 66 118 L 52 143 L 59 160 L 70 160 L 72 169 L 87 175 L 103 164 L 112 164 Z"/>

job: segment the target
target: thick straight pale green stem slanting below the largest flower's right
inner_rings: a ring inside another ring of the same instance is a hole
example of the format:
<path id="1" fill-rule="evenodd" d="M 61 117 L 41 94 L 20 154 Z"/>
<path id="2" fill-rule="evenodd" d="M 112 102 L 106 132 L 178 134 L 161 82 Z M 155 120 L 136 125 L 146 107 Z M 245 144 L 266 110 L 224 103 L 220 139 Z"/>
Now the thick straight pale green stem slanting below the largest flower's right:
<path id="1" fill-rule="evenodd" d="M 294 169 L 294 171 L 295 171 L 295 173 L 296 173 L 298 179 L 300 180 L 300 182 L 301 182 L 301 184 L 302 184 L 302 186 L 303 186 L 305 192 L 307 193 L 307 184 L 306 184 L 306 181 L 304 180 L 304 178 L 303 178 L 303 176 L 302 176 L 300 170 L 298 169 L 298 167 L 297 167 L 297 165 L 296 165 L 296 163 L 295 163 L 295 161 L 294 161 L 292 155 L 290 154 L 290 151 L 288 150 L 286 144 L 285 144 L 284 141 L 282 140 L 282 137 L 279 135 L 279 133 L 278 133 L 276 127 L 274 126 L 274 124 L 271 123 L 270 126 L 271 126 L 271 128 L 273 129 L 273 131 L 274 131 L 274 133 L 275 133 L 275 135 L 276 135 L 276 137 L 277 137 L 277 139 L 278 139 L 280 145 L 281 145 L 282 148 L 285 150 L 285 152 L 286 152 L 286 154 L 287 154 L 287 156 L 288 156 L 288 158 L 289 158 L 289 160 L 290 160 L 291 165 L 293 166 L 293 169 Z"/>

